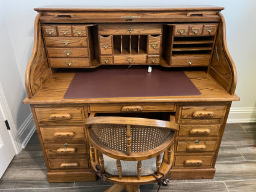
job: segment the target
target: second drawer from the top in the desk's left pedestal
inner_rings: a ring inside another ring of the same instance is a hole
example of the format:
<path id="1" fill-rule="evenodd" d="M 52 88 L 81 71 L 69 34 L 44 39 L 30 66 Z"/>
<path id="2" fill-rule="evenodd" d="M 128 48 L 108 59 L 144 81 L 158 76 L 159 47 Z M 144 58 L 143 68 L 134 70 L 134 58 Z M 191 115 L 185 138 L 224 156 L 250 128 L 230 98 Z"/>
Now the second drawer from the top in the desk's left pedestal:
<path id="1" fill-rule="evenodd" d="M 42 140 L 60 142 L 62 140 L 85 141 L 87 133 L 84 126 L 41 126 Z"/>

